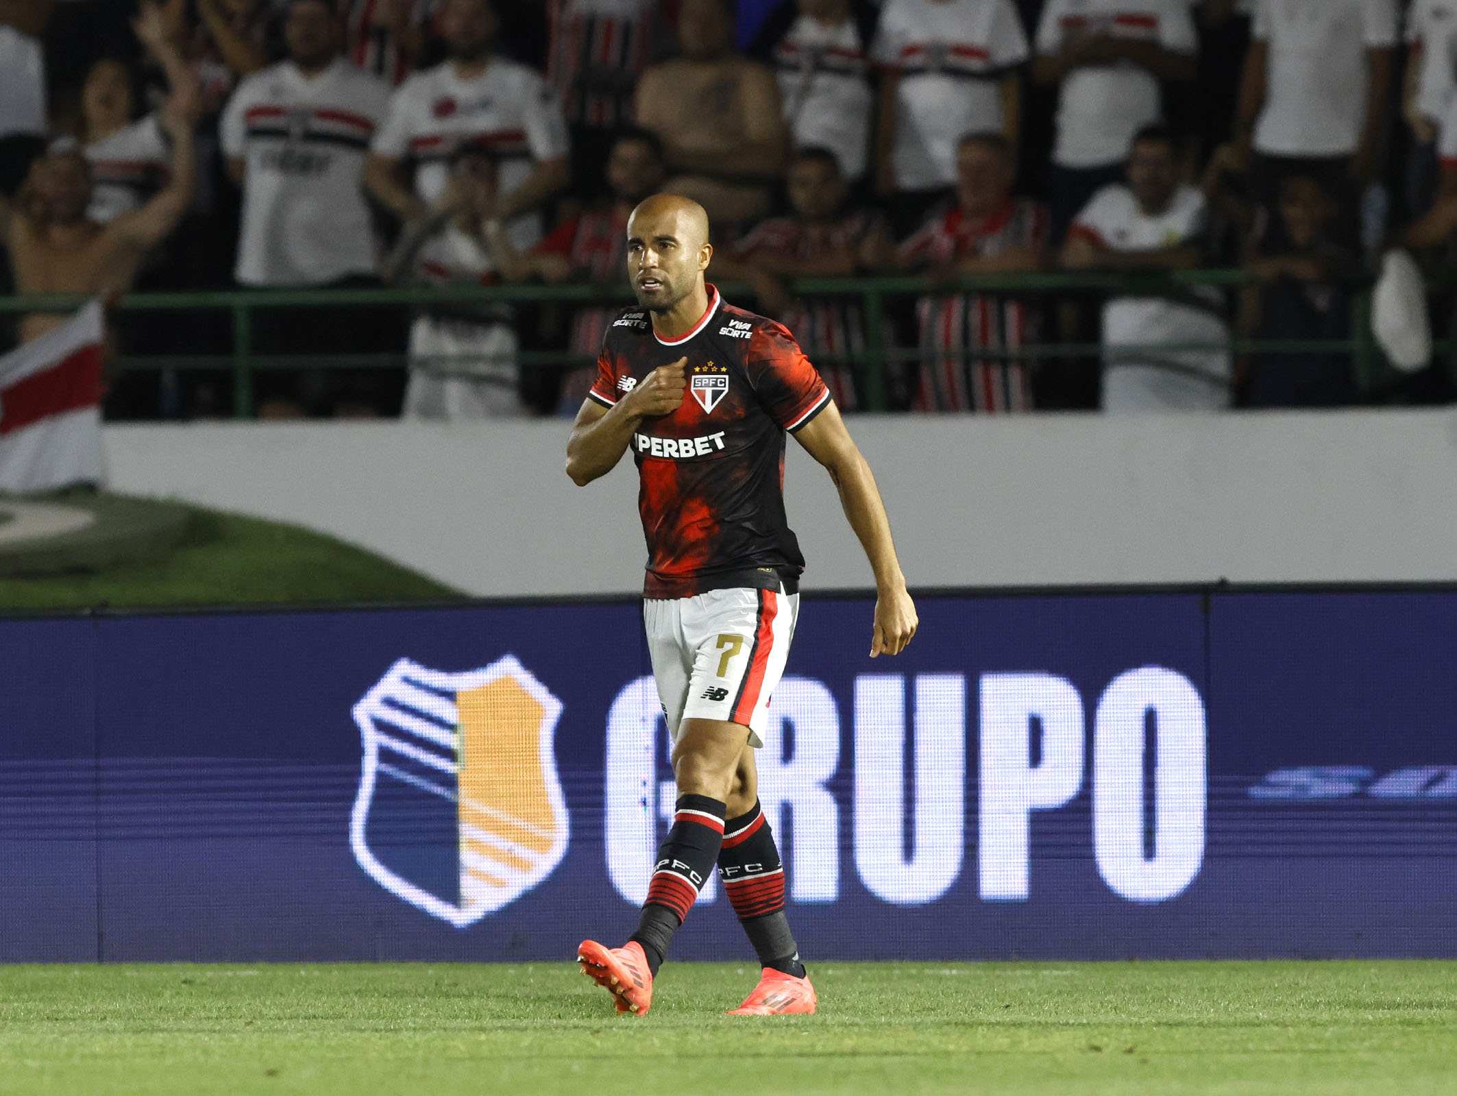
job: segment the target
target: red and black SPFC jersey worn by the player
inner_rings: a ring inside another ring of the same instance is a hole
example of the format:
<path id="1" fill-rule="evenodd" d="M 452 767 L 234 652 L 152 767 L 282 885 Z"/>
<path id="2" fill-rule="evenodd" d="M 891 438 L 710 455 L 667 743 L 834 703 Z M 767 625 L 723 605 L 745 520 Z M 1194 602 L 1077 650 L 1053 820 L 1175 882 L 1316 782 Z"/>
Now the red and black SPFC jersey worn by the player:
<path id="1" fill-rule="evenodd" d="M 680 357 L 683 404 L 644 420 L 631 442 L 648 552 L 644 596 L 793 587 L 804 557 L 784 514 L 784 434 L 823 411 L 829 389 L 785 328 L 723 303 L 710 286 L 708 310 L 682 338 L 660 338 L 644 309 L 619 312 L 589 395 L 613 407 Z"/>

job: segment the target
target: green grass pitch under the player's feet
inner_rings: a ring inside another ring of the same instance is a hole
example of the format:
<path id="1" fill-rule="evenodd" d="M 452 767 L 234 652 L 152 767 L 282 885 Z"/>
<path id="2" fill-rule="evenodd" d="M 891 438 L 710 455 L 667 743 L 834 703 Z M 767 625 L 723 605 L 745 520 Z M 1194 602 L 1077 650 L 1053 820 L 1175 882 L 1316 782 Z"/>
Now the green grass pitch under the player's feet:
<path id="1" fill-rule="evenodd" d="M 730 1017 L 670 963 L 0 968 L 0 1093 L 1457 1093 L 1457 963 L 836 963 Z"/>

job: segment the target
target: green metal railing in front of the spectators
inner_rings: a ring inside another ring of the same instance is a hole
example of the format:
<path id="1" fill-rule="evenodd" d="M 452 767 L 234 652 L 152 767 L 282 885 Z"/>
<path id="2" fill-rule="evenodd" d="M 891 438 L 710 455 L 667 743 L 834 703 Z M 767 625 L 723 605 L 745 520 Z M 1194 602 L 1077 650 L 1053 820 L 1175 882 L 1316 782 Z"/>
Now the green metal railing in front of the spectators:
<path id="1" fill-rule="evenodd" d="M 881 411 L 886 407 L 886 367 L 898 361 L 921 357 L 915 345 L 890 347 L 886 341 L 886 306 L 898 297 L 916 297 L 927 293 L 981 291 L 1043 297 L 1052 294 L 1075 294 L 1084 299 L 1106 296 L 1169 297 L 1195 303 L 1193 291 L 1199 287 L 1237 289 L 1249 283 L 1249 275 L 1240 270 L 1201 271 L 1128 271 L 1128 273 L 1026 273 L 998 274 L 988 277 L 959 277 L 944 281 L 930 281 L 921 277 L 893 278 L 798 278 L 788 284 L 791 293 L 801 299 L 858 300 L 864 318 L 864 350 L 857 354 L 841 354 L 835 359 L 819 356 L 826 364 L 844 363 L 854 367 L 863 382 L 865 407 Z M 750 300 L 746 286 L 724 283 L 724 294 L 730 299 Z M 68 312 L 85 303 L 79 296 L 16 296 L 0 297 L 0 315 Z M 627 284 L 514 284 L 514 286 L 459 286 L 459 287 L 409 287 L 409 289 L 321 289 L 321 290 L 224 290 L 182 293 L 131 293 L 119 299 L 121 312 L 224 312 L 232 325 L 232 350 L 226 354 L 154 354 L 121 357 L 114 363 L 121 370 L 224 370 L 232 373 L 233 414 L 251 418 L 254 414 L 254 373 L 271 369 L 358 369 L 358 367 L 404 367 L 409 359 L 402 353 L 382 354 L 255 354 L 255 312 L 259 309 L 291 308 L 399 308 L 427 309 L 462 305 L 514 305 L 514 303 L 558 303 L 558 305 L 628 305 L 632 302 Z M 1208 308 L 1208 302 L 1202 302 Z M 1352 332 L 1348 340 L 1320 341 L 1252 341 L 1231 340 L 1221 344 L 1167 344 L 1136 347 L 1104 347 L 1101 344 L 1055 344 L 1043 342 L 1013 350 L 959 351 L 978 360 L 995 359 L 1049 359 L 1049 357 L 1097 357 L 1119 350 L 1138 353 L 1176 353 L 1198 350 L 1228 350 L 1234 354 L 1285 353 L 1285 354 L 1351 354 L 1355 363 L 1358 383 L 1362 391 L 1372 391 L 1387 379 L 1390 366 L 1381 359 L 1370 331 L 1370 291 L 1356 290 L 1352 308 Z M 938 351 L 941 353 L 941 351 Z M 956 353 L 956 351 L 951 351 Z M 1457 337 L 1438 344 L 1438 356 L 1457 376 Z M 567 351 L 522 351 L 516 360 L 523 367 L 561 367 L 587 364 L 593 359 Z"/>

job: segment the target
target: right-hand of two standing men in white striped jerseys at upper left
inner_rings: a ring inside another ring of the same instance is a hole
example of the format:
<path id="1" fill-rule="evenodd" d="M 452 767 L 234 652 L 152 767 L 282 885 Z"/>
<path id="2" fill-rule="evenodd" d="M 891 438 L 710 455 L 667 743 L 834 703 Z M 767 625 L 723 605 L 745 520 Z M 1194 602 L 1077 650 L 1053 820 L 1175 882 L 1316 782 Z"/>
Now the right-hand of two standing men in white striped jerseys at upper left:
<path id="1" fill-rule="evenodd" d="M 555 89 L 495 54 L 497 0 L 444 0 L 450 58 L 417 73 L 389 101 L 364 165 L 370 194 L 405 222 L 424 217 L 450 182 L 459 149 L 488 149 L 497 165 L 497 217 L 519 251 L 542 236 L 538 213 L 570 182 L 567 122 Z M 414 185 L 404 171 L 414 166 Z"/>

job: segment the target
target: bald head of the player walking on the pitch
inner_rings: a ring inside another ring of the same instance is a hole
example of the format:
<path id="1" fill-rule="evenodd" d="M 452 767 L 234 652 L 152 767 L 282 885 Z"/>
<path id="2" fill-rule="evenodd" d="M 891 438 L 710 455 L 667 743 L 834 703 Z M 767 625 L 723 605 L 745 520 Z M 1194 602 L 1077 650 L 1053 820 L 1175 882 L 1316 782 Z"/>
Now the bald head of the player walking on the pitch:
<path id="1" fill-rule="evenodd" d="M 667 312 L 699 289 L 712 254 L 708 214 L 692 198 L 654 194 L 628 217 L 628 278 L 651 312 Z"/>

